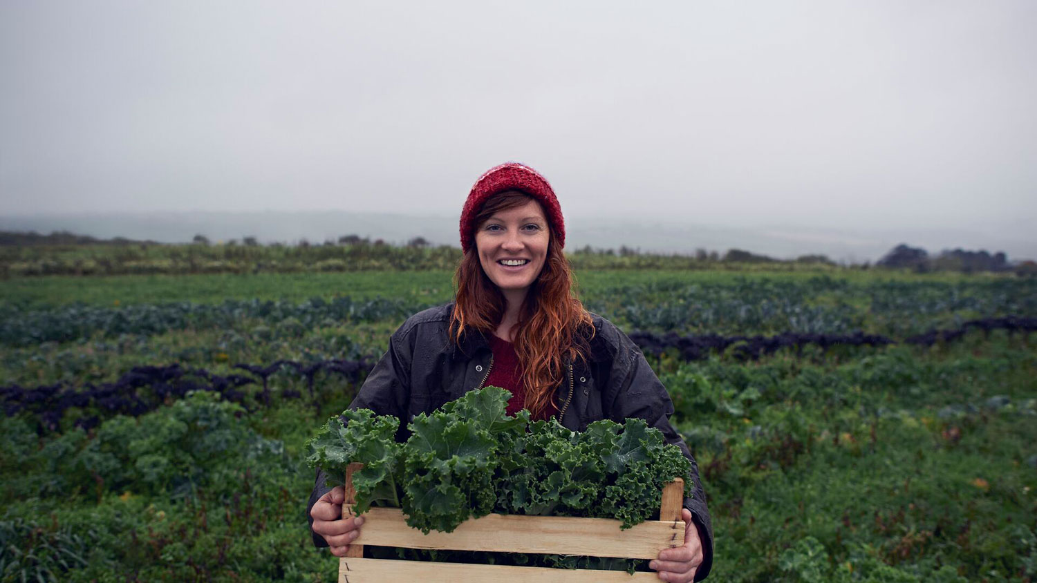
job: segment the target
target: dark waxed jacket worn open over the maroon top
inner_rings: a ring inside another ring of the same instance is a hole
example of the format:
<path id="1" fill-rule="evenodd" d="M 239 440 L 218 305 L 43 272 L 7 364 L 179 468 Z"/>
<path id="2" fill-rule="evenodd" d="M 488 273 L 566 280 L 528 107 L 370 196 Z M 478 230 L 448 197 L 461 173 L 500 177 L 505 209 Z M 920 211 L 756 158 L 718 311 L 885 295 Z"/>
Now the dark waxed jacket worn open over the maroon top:
<path id="1" fill-rule="evenodd" d="M 402 441 L 407 438 L 407 424 L 418 413 L 430 413 L 482 386 L 493 360 L 489 344 L 480 333 L 465 334 L 460 344 L 453 343 L 449 337 L 452 310 L 451 302 L 415 314 L 403 322 L 349 408 L 399 417 L 402 422 L 396 437 Z M 702 540 L 704 560 L 695 577 L 699 581 L 712 566 L 712 525 L 698 464 L 669 421 L 673 403 L 637 345 L 612 322 L 597 315 L 592 319 L 595 332 L 589 361 L 568 368 L 568 379 L 555 397 L 561 424 L 572 431 L 584 431 L 599 419 L 622 422 L 627 417 L 640 417 L 662 431 L 668 443 L 680 447 L 692 462 L 690 477 L 695 488 L 693 496 L 684 498 L 684 507 L 692 512 Z M 306 508 L 311 527 L 310 508 L 330 490 L 324 483 L 324 472 L 318 471 Z M 323 536 L 312 534 L 315 546 L 328 546 Z"/>

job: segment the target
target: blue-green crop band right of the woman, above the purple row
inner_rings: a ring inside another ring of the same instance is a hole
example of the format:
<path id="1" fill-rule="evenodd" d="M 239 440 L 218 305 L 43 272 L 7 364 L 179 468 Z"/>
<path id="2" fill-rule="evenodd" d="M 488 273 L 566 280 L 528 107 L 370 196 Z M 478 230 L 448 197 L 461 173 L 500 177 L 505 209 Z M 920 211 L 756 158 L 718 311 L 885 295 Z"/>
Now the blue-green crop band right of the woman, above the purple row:
<path id="1" fill-rule="evenodd" d="M 637 329 L 907 334 L 968 318 L 1037 314 L 1037 282 L 669 281 L 590 294 L 589 304 Z"/>

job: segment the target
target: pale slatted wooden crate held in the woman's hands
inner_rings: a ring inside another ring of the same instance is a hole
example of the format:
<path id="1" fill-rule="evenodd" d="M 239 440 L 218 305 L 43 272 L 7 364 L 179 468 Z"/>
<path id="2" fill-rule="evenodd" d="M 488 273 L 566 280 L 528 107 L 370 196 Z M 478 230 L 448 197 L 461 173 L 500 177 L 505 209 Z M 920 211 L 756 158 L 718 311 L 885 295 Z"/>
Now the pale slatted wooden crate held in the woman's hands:
<path id="1" fill-rule="evenodd" d="M 352 513 L 356 501 L 351 464 L 345 474 L 343 515 Z M 618 520 L 602 518 L 487 515 L 469 519 L 453 532 L 422 533 L 403 521 L 399 508 L 370 508 L 364 515 L 360 541 L 366 545 L 439 549 L 543 553 L 653 559 L 663 549 L 684 544 L 684 523 L 680 520 L 684 483 L 676 479 L 663 489 L 660 520 L 643 522 L 622 530 Z M 499 564 L 446 563 L 396 559 L 363 558 L 363 545 L 349 545 L 339 561 L 339 583 L 382 583 L 423 581 L 429 583 L 657 581 L 654 573 L 598 571 L 589 569 L 546 569 Z"/>

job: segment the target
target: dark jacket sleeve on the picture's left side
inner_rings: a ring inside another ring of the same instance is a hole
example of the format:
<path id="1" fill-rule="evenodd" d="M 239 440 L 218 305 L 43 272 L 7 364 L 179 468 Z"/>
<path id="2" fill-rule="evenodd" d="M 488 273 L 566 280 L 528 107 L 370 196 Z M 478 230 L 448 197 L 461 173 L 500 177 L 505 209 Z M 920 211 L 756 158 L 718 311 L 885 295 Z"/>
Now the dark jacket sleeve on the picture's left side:
<path id="1" fill-rule="evenodd" d="M 400 340 L 398 331 L 389 339 L 389 350 L 382 355 L 377 365 L 367 375 L 357 397 L 349 403 L 351 409 L 370 409 L 379 415 L 395 415 L 403 418 L 411 396 L 411 352 Z M 310 511 L 321 496 L 331 491 L 325 482 L 324 470 L 317 468 L 313 492 L 310 493 L 310 500 L 306 505 L 306 520 L 310 525 L 313 546 L 317 548 L 329 545 L 324 536 L 313 532 L 313 517 L 310 516 Z"/>

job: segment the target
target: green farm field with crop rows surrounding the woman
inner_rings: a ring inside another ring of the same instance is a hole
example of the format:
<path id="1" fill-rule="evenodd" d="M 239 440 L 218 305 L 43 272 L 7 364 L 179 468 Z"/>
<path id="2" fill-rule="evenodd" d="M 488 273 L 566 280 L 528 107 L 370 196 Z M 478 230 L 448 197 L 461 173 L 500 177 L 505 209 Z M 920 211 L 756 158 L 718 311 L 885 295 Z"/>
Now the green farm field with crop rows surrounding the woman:
<path id="1" fill-rule="evenodd" d="M 577 276 L 671 392 L 710 581 L 1037 577 L 1037 280 Z M 305 442 L 450 278 L 0 281 L 0 581 L 335 580 L 306 527 Z"/>

